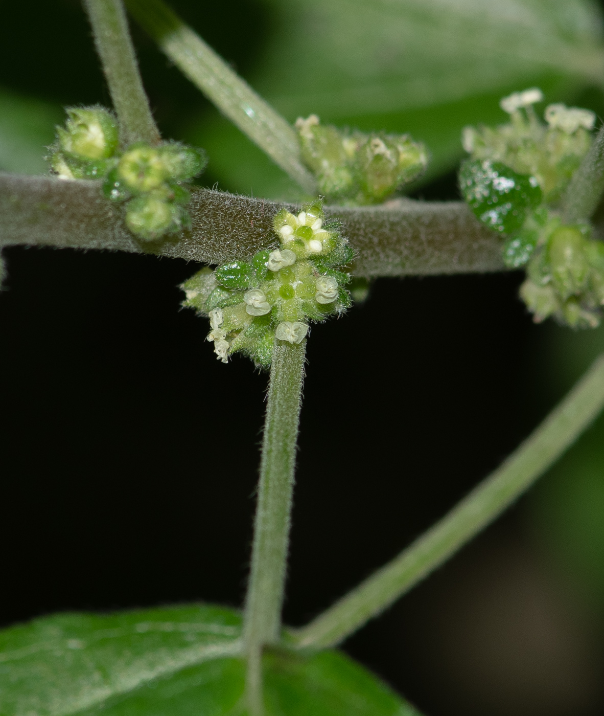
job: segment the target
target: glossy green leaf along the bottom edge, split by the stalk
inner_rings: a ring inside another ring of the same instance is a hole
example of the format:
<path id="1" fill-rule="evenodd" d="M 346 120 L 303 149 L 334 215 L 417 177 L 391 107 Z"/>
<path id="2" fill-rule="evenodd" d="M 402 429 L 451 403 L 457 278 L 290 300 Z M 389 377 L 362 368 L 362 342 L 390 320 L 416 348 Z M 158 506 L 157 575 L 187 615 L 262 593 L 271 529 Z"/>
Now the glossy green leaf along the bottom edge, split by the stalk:
<path id="1" fill-rule="evenodd" d="M 267 652 L 266 716 L 419 716 L 333 650 Z M 1 716 L 243 716 L 240 616 L 186 605 L 0 632 Z"/>

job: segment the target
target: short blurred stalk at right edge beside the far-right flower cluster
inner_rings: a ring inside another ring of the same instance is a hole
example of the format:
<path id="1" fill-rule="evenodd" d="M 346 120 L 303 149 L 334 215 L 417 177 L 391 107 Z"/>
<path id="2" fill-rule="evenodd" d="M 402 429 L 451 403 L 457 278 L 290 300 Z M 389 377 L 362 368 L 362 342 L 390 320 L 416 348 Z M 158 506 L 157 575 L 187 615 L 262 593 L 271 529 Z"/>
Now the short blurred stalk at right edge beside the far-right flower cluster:
<path id="1" fill-rule="evenodd" d="M 604 193 L 604 127 L 593 141 L 589 152 L 573 174 L 562 200 L 562 216 L 566 223 L 588 221 Z"/>

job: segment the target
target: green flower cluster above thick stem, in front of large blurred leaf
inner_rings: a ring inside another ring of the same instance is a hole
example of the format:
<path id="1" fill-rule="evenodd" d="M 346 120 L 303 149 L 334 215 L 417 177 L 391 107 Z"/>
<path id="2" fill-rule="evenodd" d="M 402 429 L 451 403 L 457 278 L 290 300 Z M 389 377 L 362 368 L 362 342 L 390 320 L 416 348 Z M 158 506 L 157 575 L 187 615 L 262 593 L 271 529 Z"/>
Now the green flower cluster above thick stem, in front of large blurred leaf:
<path id="1" fill-rule="evenodd" d="M 303 162 L 330 201 L 376 204 L 422 174 L 428 163 L 421 142 L 409 135 L 340 130 L 321 125 L 316 115 L 299 117 Z"/>

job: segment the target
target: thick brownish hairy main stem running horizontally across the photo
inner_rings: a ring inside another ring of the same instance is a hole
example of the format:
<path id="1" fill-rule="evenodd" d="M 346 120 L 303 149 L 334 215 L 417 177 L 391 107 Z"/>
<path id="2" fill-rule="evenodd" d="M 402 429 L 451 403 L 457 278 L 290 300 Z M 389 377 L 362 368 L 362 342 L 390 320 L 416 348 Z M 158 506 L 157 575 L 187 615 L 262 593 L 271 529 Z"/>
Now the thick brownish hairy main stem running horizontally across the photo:
<path id="1" fill-rule="evenodd" d="M 192 230 L 142 243 L 127 231 L 120 206 L 103 198 L 98 182 L 0 173 L 0 247 L 105 248 L 224 263 L 276 247 L 273 217 L 282 207 L 265 199 L 194 188 Z M 463 202 L 404 199 L 371 207 L 328 206 L 326 214 L 341 221 L 356 251 L 356 276 L 505 269 L 500 239 Z"/>

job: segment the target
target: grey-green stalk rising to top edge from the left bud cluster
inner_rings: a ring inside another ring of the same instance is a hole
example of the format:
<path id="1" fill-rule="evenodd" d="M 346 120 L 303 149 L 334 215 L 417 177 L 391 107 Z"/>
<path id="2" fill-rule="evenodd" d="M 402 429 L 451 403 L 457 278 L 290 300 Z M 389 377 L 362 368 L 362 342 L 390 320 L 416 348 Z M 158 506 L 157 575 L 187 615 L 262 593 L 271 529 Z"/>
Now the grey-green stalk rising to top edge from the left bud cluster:
<path id="1" fill-rule="evenodd" d="M 84 0 L 84 4 L 113 106 L 120 120 L 122 145 L 132 142 L 157 144 L 160 132 L 142 87 L 122 0 Z"/>

